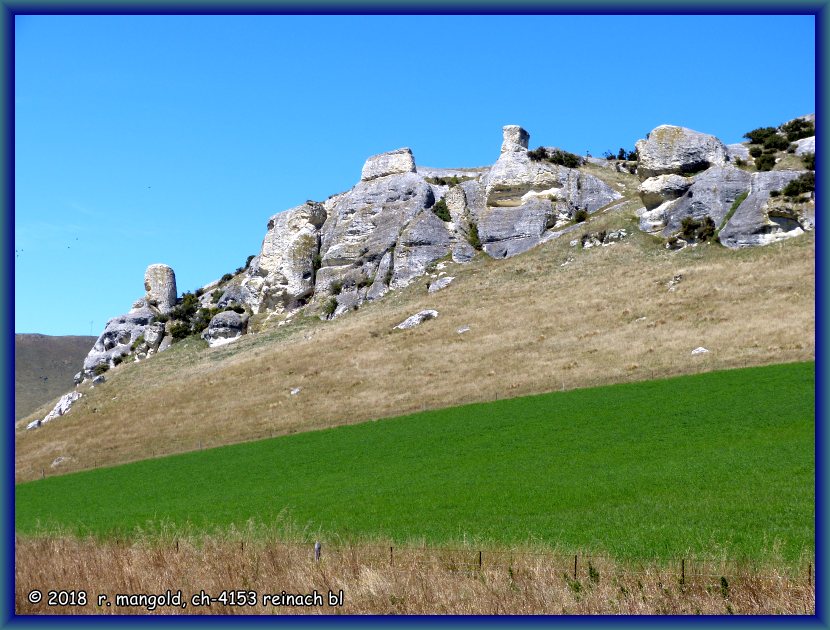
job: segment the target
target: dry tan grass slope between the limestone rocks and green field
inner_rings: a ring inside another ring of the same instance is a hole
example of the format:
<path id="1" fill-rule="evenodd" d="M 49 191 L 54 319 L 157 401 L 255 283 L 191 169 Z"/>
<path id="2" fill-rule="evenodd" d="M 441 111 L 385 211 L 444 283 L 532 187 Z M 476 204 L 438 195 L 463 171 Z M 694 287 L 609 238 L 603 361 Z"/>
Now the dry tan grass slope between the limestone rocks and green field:
<path id="1" fill-rule="evenodd" d="M 16 479 L 426 408 L 814 358 L 813 234 L 669 252 L 636 229 L 633 206 L 508 260 L 449 263 L 456 280 L 432 295 L 421 279 L 333 322 L 295 317 L 277 328 L 272 318 L 230 346 L 189 340 L 122 365 L 105 385 L 83 387 L 67 416 L 36 431 L 18 425 Z M 613 246 L 569 246 L 583 231 L 618 227 L 631 236 Z M 439 317 L 392 331 L 425 308 Z M 698 346 L 711 352 L 691 356 Z M 66 461 L 52 467 L 57 457 Z"/>

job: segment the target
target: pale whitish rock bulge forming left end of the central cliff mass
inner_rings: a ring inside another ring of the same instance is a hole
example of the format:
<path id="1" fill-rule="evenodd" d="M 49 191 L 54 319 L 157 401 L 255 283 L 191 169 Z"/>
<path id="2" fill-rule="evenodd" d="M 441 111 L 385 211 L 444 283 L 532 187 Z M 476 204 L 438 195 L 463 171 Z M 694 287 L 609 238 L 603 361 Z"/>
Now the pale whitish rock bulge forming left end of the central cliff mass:
<path id="1" fill-rule="evenodd" d="M 320 228 L 325 220 L 323 205 L 313 201 L 270 218 L 259 256 L 251 261 L 239 296 L 255 313 L 273 308 L 294 309 L 310 297 L 314 291 Z M 226 303 L 237 299 L 234 292 L 228 291 L 231 289 L 226 290 Z"/>

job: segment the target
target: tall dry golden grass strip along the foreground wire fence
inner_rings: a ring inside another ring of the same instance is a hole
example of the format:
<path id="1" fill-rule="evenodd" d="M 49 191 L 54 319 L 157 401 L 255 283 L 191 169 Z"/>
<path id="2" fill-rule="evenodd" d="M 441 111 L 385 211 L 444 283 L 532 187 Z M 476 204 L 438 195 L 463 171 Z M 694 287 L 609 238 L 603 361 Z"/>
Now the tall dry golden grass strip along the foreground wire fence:
<path id="1" fill-rule="evenodd" d="M 17 614 L 147 614 L 146 606 L 117 607 L 115 595 L 182 591 L 190 602 L 205 591 L 255 591 L 254 606 L 156 608 L 151 614 L 541 614 L 541 615 L 813 615 L 815 591 L 807 566 L 750 569 L 728 563 L 623 565 L 605 558 L 474 548 L 343 547 L 214 537 L 199 541 L 97 542 L 17 538 Z M 588 565 L 590 562 L 590 567 Z M 593 578 L 591 573 L 593 573 Z M 724 582 L 725 579 L 725 582 Z M 28 601 L 33 589 L 39 604 Z M 262 595 L 343 590 L 343 606 L 262 606 Z M 49 590 L 83 590 L 86 606 L 46 606 Z M 111 606 L 99 607 L 98 594 Z"/>

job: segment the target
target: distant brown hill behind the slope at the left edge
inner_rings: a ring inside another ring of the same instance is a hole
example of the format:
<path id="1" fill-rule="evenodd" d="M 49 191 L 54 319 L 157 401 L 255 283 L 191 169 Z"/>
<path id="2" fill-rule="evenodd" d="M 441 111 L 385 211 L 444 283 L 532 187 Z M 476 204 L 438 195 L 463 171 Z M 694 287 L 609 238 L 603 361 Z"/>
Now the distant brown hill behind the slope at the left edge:
<path id="1" fill-rule="evenodd" d="M 96 337 L 14 336 L 14 419 L 68 392 Z"/>

